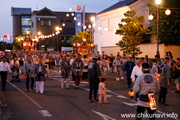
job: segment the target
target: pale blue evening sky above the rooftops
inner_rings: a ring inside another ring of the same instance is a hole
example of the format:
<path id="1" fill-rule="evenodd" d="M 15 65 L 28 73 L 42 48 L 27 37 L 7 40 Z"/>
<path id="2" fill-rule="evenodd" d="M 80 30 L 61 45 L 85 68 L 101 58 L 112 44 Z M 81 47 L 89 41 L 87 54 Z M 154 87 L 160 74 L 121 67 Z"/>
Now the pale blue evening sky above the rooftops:
<path id="1" fill-rule="evenodd" d="M 0 0 L 0 38 L 8 34 L 12 36 L 11 7 L 40 10 L 44 7 L 52 11 L 75 11 L 76 5 L 85 5 L 86 12 L 101 12 L 119 0 Z M 38 7 L 38 8 L 37 8 Z"/>

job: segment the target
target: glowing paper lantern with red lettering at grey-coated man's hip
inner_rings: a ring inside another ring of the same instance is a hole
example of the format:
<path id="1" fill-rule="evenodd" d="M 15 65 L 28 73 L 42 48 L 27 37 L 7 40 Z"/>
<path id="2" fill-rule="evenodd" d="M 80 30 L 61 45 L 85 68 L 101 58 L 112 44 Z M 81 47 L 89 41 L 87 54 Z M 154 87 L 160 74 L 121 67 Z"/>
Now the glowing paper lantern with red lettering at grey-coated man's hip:
<path id="1" fill-rule="evenodd" d="M 150 109 L 151 110 L 156 110 L 157 106 L 156 106 L 156 100 L 155 100 L 154 93 L 149 93 L 148 98 L 149 98 Z"/>

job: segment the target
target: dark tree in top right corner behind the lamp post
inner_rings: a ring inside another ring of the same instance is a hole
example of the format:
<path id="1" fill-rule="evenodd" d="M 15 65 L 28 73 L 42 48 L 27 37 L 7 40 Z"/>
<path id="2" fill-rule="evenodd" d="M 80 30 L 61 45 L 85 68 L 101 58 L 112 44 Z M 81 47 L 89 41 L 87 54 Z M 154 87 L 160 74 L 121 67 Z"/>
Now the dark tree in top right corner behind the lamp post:
<path id="1" fill-rule="evenodd" d="M 155 0 L 149 0 L 149 8 L 154 16 L 151 22 L 153 34 L 157 34 L 157 5 Z M 159 12 L 159 42 L 165 45 L 180 45 L 180 0 L 163 0 Z M 170 15 L 165 10 L 171 10 Z M 171 9 L 172 8 L 172 9 Z"/>

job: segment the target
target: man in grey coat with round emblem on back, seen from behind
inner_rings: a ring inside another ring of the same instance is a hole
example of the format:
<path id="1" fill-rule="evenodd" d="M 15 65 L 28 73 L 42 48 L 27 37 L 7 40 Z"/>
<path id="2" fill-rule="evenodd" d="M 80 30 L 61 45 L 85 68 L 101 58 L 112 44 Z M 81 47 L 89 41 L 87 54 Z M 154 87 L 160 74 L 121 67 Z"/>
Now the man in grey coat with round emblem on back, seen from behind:
<path id="1" fill-rule="evenodd" d="M 139 94 L 136 120 L 142 119 L 141 115 L 145 112 L 145 109 L 147 109 L 150 115 L 155 113 L 156 104 L 154 104 L 153 108 L 150 106 L 149 94 L 154 94 L 159 91 L 159 83 L 156 77 L 150 73 L 148 63 L 142 64 L 142 70 L 143 74 L 137 77 L 133 86 L 134 93 Z M 155 118 L 151 117 L 150 120 L 155 120 Z"/>

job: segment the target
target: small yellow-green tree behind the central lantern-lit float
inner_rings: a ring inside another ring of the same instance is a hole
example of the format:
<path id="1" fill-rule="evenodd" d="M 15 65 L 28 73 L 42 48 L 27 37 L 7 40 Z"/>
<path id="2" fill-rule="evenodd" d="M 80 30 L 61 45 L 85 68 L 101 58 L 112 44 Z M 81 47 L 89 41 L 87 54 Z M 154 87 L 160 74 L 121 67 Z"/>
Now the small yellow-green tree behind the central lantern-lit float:
<path id="1" fill-rule="evenodd" d="M 89 34 L 87 31 L 85 32 L 79 32 L 77 35 L 73 35 L 72 43 L 82 43 L 83 38 L 86 38 L 86 43 L 93 43 L 93 40 L 91 38 L 91 34 Z M 77 48 L 74 48 L 74 51 L 77 51 Z"/>

